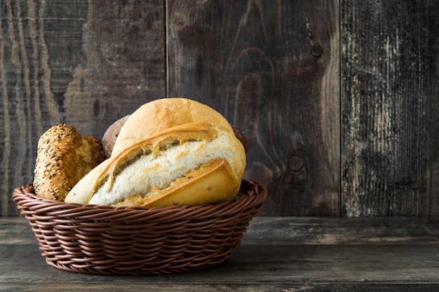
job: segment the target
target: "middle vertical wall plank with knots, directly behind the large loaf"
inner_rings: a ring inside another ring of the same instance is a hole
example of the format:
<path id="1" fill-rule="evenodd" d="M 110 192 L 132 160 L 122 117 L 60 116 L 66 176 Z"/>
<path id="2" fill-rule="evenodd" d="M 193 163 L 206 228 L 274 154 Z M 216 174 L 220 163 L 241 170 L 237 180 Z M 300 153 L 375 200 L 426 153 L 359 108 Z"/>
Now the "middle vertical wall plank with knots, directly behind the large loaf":
<path id="1" fill-rule="evenodd" d="M 168 1 L 168 95 L 250 143 L 261 216 L 339 216 L 339 1 Z"/>

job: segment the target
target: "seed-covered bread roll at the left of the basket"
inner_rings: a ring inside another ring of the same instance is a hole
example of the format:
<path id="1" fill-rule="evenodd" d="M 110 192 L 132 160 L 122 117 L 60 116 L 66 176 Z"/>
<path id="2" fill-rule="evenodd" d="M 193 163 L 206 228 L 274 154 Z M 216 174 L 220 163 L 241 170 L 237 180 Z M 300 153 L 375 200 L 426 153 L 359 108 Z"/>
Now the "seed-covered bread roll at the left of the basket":
<path id="1" fill-rule="evenodd" d="M 82 137 L 69 125 L 50 127 L 38 141 L 35 194 L 63 201 L 73 186 L 103 160 L 102 144 L 96 137 Z"/>

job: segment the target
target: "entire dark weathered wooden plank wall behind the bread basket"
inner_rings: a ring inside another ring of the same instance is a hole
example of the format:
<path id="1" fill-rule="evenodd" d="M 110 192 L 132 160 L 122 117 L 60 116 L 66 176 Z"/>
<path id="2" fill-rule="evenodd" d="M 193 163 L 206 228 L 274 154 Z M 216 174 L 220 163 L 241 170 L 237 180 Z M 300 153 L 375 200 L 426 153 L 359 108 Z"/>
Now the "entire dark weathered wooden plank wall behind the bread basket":
<path id="1" fill-rule="evenodd" d="M 260 216 L 439 215 L 439 2 L 0 0 L 0 216 L 56 123 L 162 97 L 250 142 Z"/>

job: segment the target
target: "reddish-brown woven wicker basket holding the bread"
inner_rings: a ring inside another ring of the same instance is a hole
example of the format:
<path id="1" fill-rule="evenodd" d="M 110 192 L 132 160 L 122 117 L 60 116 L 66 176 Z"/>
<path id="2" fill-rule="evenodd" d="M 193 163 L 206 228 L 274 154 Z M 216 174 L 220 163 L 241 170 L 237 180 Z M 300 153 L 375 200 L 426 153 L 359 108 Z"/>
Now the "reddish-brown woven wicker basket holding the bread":
<path id="1" fill-rule="evenodd" d="M 235 200 L 147 208 L 47 200 L 32 184 L 13 190 L 48 265 L 109 275 L 176 274 L 223 263 L 266 195 L 261 183 L 243 180 Z"/>

